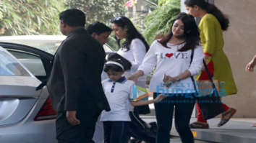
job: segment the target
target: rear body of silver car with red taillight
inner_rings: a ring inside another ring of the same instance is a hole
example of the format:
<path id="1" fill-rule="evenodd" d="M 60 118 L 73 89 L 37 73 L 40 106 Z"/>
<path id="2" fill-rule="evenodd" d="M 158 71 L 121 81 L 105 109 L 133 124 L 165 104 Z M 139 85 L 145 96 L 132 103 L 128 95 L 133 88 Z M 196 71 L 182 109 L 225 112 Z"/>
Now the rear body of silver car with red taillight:
<path id="1" fill-rule="evenodd" d="M 8 50 L 19 52 L 12 46 Z M 0 47 L 1 143 L 56 142 L 56 111 L 51 107 L 46 88 L 35 90 L 39 84 L 40 80 L 17 58 Z"/>

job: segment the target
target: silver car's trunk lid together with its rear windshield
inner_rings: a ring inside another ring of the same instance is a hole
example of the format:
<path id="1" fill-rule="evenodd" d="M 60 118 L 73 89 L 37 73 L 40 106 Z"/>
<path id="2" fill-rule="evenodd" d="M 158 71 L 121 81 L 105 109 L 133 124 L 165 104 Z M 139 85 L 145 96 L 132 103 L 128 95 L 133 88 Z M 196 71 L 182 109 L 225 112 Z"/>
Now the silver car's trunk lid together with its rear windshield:
<path id="1" fill-rule="evenodd" d="M 0 127 L 25 119 L 42 95 L 35 90 L 39 85 L 40 80 L 0 47 Z"/>

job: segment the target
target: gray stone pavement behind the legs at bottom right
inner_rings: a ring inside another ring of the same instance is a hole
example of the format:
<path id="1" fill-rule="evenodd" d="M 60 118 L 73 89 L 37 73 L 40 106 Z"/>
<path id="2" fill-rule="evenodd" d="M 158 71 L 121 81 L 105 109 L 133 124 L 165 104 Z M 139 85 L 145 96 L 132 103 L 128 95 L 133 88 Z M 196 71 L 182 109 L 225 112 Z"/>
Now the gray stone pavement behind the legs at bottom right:
<path id="1" fill-rule="evenodd" d="M 142 116 L 147 122 L 155 121 L 154 116 Z M 191 122 L 196 121 L 195 118 Z M 227 124 L 218 127 L 220 119 L 210 119 L 210 129 L 192 129 L 195 139 L 202 139 L 206 142 L 223 143 L 256 143 L 256 127 L 250 127 L 256 123 L 256 119 L 231 119 Z M 171 129 L 171 135 L 179 137 L 174 125 Z M 171 143 L 178 143 L 179 139 L 171 139 Z M 196 143 L 202 143 L 196 141 Z"/>

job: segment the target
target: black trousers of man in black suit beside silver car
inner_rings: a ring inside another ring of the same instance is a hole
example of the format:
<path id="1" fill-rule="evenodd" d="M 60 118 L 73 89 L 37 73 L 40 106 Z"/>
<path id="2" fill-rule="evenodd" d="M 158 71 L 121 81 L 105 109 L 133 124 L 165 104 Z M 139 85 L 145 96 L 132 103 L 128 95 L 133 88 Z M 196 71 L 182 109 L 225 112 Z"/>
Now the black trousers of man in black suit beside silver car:
<path id="1" fill-rule="evenodd" d="M 82 113 L 77 115 L 81 124 L 74 126 L 67 121 L 66 112 L 58 112 L 56 119 L 58 143 L 94 143 L 95 123 L 101 114 L 101 110 Z"/>

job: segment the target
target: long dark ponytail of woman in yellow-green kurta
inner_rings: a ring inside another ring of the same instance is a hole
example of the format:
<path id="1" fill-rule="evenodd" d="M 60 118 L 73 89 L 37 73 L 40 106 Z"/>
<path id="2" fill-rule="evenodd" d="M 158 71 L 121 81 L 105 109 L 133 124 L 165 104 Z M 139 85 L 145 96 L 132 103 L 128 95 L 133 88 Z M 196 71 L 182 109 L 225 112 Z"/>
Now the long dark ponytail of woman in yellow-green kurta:
<path id="1" fill-rule="evenodd" d="M 193 7 L 195 5 L 199 6 L 201 9 L 207 11 L 210 14 L 213 14 L 217 19 L 218 22 L 221 24 L 221 29 L 224 31 L 228 29 L 229 27 L 229 19 L 226 17 L 220 9 L 218 9 L 213 4 L 208 4 L 205 0 L 186 0 L 185 2 L 186 6 Z"/>

